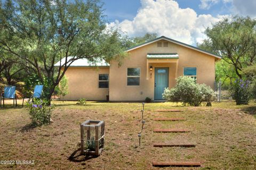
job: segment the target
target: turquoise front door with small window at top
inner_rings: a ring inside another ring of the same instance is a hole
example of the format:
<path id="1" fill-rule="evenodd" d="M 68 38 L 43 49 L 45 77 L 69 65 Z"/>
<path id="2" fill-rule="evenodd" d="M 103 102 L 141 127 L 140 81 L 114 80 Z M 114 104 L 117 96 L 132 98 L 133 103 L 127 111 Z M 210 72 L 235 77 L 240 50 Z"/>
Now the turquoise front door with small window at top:
<path id="1" fill-rule="evenodd" d="M 168 68 L 155 68 L 155 100 L 163 100 L 164 88 L 169 86 L 168 77 Z"/>

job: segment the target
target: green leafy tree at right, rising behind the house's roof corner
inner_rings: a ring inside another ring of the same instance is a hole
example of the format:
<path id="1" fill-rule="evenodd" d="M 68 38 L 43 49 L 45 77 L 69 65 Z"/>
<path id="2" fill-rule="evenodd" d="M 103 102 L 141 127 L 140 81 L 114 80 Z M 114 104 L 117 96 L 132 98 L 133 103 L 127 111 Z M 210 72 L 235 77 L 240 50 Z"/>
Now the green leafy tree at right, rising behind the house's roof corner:
<path id="1" fill-rule="evenodd" d="M 205 30 L 207 39 L 199 47 L 223 56 L 223 60 L 234 67 L 239 78 L 242 70 L 255 63 L 256 20 L 235 16 L 223 19 Z"/>

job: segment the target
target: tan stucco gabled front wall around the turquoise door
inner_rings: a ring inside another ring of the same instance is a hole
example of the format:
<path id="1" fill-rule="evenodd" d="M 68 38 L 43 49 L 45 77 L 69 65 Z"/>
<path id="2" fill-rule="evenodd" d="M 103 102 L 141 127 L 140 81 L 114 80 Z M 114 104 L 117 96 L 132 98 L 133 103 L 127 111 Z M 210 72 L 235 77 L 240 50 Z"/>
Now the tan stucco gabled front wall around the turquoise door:
<path id="1" fill-rule="evenodd" d="M 170 42 L 168 47 L 157 47 L 155 42 L 130 51 L 130 55 L 123 61 L 121 67 L 118 67 L 115 61 L 110 63 L 110 101 L 142 101 L 146 97 L 154 99 L 155 67 L 169 67 L 169 87 L 175 85 L 175 63 L 149 63 L 149 67 L 153 66 L 153 71 L 149 72 L 149 79 L 146 79 L 147 53 L 178 53 L 178 77 L 183 76 L 183 67 L 197 67 L 197 83 L 204 83 L 214 88 L 215 58 L 213 56 Z M 127 68 L 130 67 L 140 68 L 139 86 L 127 86 Z"/>

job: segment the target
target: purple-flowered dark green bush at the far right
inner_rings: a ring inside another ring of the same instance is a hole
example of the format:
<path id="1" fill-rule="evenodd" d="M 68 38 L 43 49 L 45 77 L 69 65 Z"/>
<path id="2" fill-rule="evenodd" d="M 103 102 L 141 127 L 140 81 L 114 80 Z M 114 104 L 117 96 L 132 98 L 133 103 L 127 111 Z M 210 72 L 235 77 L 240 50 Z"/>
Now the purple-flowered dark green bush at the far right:
<path id="1" fill-rule="evenodd" d="M 249 103 L 249 100 L 251 99 L 252 95 L 248 80 L 235 80 L 235 83 L 233 84 L 230 90 L 233 98 L 236 100 L 236 105 Z"/>

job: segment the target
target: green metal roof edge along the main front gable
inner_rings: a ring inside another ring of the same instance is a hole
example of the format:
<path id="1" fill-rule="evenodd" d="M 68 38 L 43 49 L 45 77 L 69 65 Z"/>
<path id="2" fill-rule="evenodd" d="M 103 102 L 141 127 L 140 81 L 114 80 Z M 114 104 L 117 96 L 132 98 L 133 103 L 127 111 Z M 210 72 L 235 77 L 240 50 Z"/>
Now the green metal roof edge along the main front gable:
<path id="1" fill-rule="evenodd" d="M 214 53 L 212 53 L 212 52 L 202 50 L 201 48 L 198 48 L 198 47 L 195 47 L 195 46 L 192 46 L 192 45 L 189 45 L 189 44 L 185 44 L 185 43 L 176 41 L 176 40 L 174 40 L 174 39 L 167 38 L 167 37 L 165 37 L 165 36 L 161 36 L 161 37 L 152 39 L 151 41 L 148 41 L 148 42 L 145 42 L 145 43 L 142 43 L 142 44 L 133 46 L 133 47 L 131 47 L 131 48 L 128 48 L 126 51 L 128 52 L 128 51 L 134 50 L 134 49 L 139 48 L 139 47 L 141 47 L 141 46 L 144 46 L 144 45 L 148 45 L 148 44 L 150 44 L 150 43 L 157 42 L 157 41 L 159 41 L 159 40 L 161 40 L 161 39 L 165 39 L 166 41 L 169 41 L 169 42 L 172 42 L 172 43 L 175 43 L 175 44 L 180 44 L 180 45 L 182 45 L 182 46 L 186 46 L 186 47 L 191 48 L 191 49 L 194 49 L 194 50 L 196 50 L 196 51 L 200 51 L 200 52 L 203 52 L 203 53 L 212 55 L 212 56 L 214 56 L 215 58 L 219 58 L 219 59 L 222 58 L 221 55 L 217 55 L 217 54 L 214 54 Z"/>

